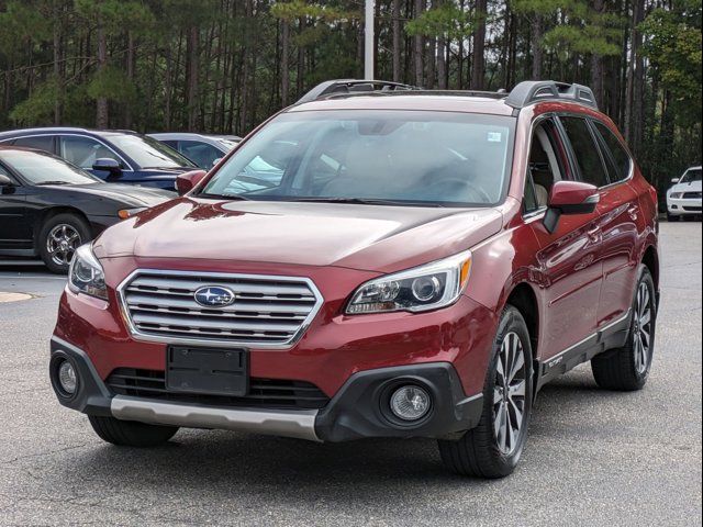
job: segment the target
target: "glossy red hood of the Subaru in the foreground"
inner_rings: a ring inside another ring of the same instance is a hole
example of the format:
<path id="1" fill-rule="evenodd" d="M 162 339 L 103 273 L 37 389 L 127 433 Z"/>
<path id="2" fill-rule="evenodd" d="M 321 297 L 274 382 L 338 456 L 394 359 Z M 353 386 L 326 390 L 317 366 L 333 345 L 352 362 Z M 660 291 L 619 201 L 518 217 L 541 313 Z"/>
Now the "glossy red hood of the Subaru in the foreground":
<path id="1" fill-rule="evenodd" d="M 498 233 L 495 209 L 405 208 L 181 198 L 109 228 L 98 258 L 130 256 L 338 266 L 392 272 Z"/>

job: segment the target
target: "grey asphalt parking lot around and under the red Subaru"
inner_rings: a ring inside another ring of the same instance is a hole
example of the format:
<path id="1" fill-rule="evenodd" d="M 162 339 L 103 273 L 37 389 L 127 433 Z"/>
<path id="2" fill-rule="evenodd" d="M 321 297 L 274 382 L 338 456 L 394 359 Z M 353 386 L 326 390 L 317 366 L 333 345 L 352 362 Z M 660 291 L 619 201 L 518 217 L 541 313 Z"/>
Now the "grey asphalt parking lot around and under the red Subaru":
<path id="1" fill-rule="evenodd" d="M 518 470 L 493 482 L 445 473 L 432 440 L 181 430 L 108 446 L 47 379 L 64 279 L 0 264 L 0 292 L 31 295 L 0 294 L 0 525 L 701 525 L 701 235 L 662 225 L 646 389 L 601 391 L 588 366 L 555 381 Z"/>

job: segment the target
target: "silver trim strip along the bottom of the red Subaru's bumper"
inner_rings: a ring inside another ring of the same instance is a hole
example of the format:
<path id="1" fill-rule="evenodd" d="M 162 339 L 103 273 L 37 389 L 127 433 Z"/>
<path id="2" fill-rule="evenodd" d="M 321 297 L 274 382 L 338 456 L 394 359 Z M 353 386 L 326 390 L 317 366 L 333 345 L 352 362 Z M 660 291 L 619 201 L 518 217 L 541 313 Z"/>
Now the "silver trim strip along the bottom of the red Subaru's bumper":
<path id="1" fill-rule="evenodd" d="M 113 417 L 122 421 L 267 434 L 321 441 L 315 434 L 316 410 L 287 412 L 205 407 L 115 395 L 110 404 L 110 411 Z"/>

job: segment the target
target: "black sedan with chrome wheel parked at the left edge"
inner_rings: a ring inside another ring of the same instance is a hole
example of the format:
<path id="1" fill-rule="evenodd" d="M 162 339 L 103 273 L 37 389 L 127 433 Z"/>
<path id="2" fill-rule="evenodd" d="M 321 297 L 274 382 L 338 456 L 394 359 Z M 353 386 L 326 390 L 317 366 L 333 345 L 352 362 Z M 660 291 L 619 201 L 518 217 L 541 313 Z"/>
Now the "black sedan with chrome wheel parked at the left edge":
<path id="1" fill-rule="evenodd" d="M 0 146 L 0 255 L 40 256 L 66 272 L 76 249 L 172 194 L 105 183 L 40 150 Z"/>

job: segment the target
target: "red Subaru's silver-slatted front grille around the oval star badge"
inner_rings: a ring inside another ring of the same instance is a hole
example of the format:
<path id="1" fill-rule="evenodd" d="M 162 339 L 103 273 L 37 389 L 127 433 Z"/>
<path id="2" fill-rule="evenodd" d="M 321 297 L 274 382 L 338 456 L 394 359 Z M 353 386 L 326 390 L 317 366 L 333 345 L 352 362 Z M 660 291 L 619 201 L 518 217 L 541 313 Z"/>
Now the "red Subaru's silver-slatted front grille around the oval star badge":
<path id="1" fill-rule="evenodd" d="M 204 287 L 232 290 L 226 307 L 203 307 Z M 137 271 L 120 295 L 133 333 L 164 343 L 219 341 L 255 347 L 292 345 L 321 304 L 310 280 L 245 274 Z"/>

